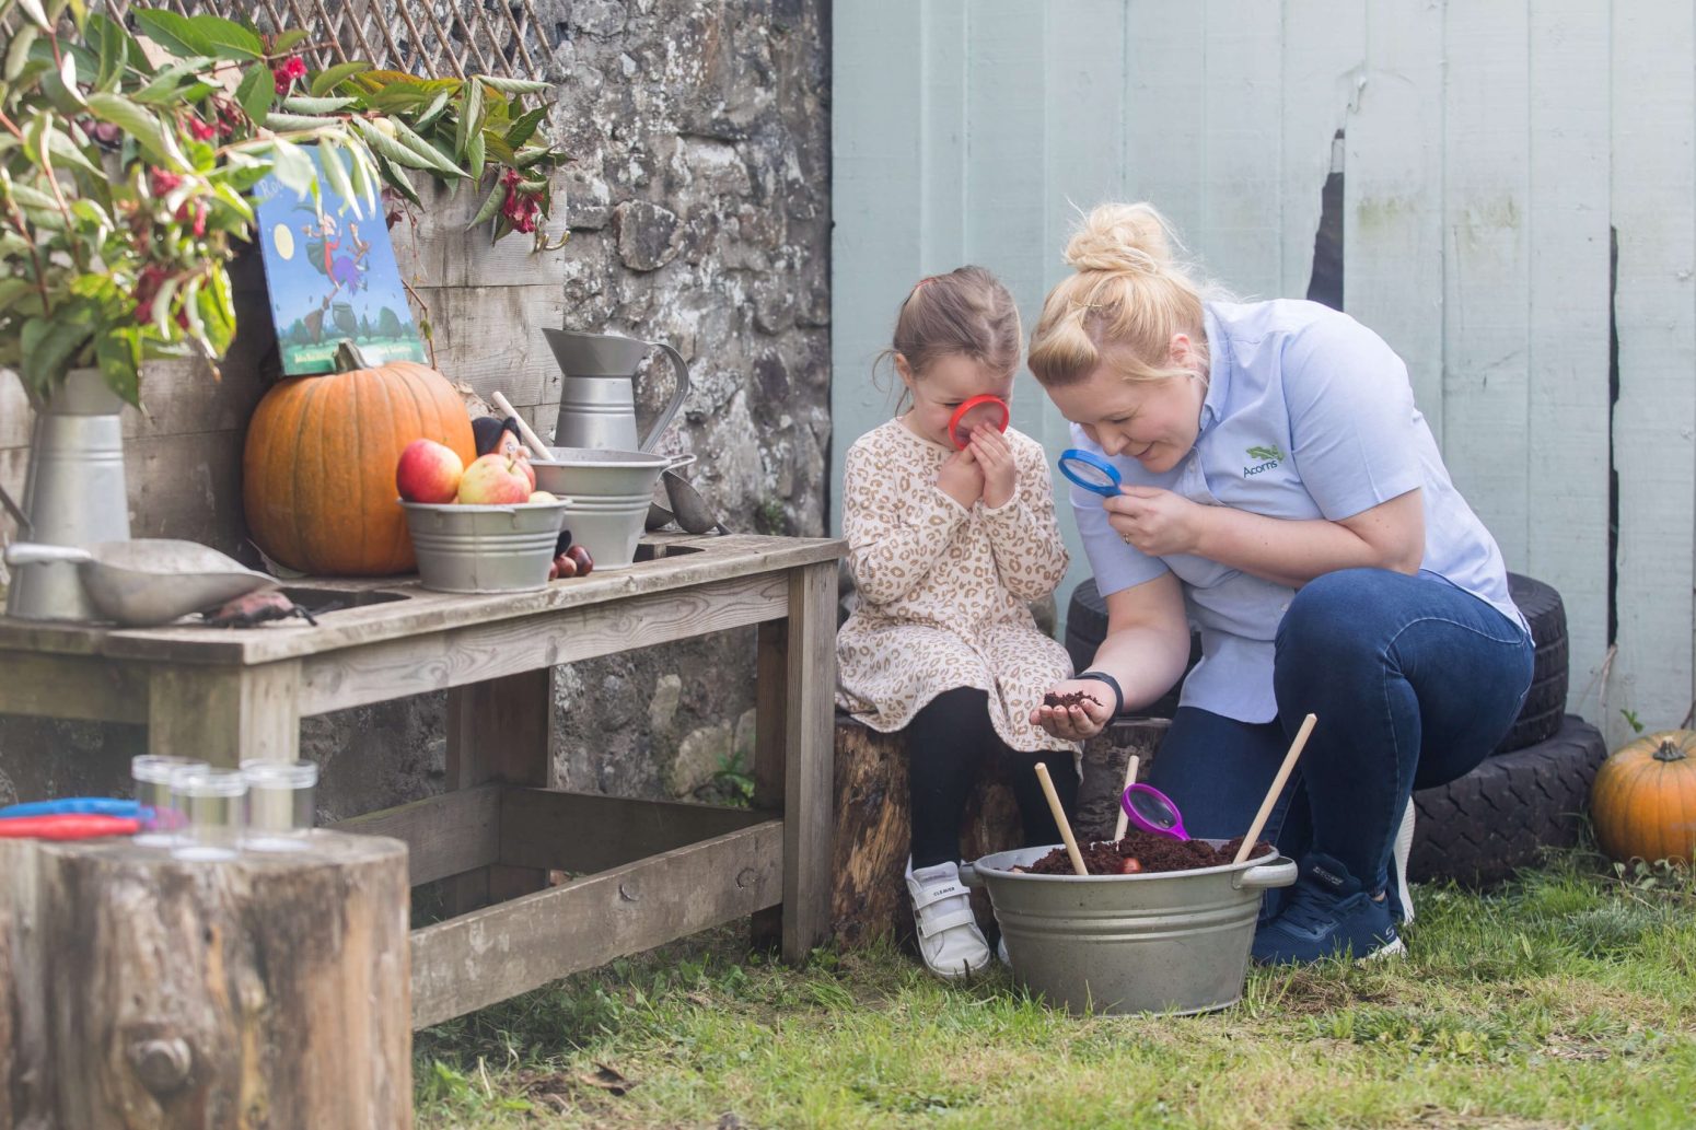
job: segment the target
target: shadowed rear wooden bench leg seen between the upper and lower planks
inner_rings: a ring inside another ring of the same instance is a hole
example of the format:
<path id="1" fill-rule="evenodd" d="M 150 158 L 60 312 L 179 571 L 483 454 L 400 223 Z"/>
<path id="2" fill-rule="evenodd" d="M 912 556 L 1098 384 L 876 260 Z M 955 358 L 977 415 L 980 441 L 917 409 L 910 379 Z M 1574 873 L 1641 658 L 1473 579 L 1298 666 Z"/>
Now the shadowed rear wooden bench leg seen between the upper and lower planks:
<path id="1" fill-rule="evenodd" d="M 553 780 L 553 668 L 448 691 L 448 787 Z M 536 867 L 483 867 L 446 881 L 448 913 L 502 903 L 548 886 Z"/>

